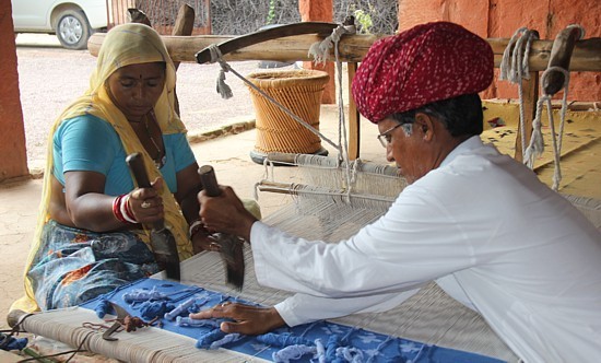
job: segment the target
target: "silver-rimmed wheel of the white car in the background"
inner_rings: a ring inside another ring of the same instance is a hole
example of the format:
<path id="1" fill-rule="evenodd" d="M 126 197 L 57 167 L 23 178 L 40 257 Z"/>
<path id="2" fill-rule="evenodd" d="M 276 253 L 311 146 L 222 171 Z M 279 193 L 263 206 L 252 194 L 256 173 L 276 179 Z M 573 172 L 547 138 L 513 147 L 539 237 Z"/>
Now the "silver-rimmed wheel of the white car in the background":
<path id="1" fill-rule="evenodd" d="M 79 10 L 60 13 L 56 32 L 60 44 L 68 49 L 86 49 L 87 39 L 92 35 L 85 14 Z"/>

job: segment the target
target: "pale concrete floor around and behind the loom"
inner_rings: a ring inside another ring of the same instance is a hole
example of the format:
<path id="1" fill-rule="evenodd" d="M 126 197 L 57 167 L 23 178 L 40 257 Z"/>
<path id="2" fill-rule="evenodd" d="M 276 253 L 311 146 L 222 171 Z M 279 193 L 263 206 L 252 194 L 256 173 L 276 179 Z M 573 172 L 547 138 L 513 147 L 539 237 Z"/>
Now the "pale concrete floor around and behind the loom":
<path id="1" fill-rule="evenodd" d="M 252 116 L 248 116 L 252 120 Z M 338 106 L 321 106 L 320 129 L 330 139 L 338 140 Z M 385 163 L 385 150 L 376 141 L 377 127 L 362 121 L 362 153 L 365 161 Z M 238 134 L 193 142 L 192 150 L 199 165 L 210 164 L 215 168 L 217 182 L 232 186 L 239 197 L 254 198 L 255 184 L 260 182 L 266 167 L 251 161 L 249 152 L 255 148 L 255 129 Z M 195 140 L 201 139 L 198 136 Z M 335 155 L 327 143 L 330 155 Z M 294 178 L 295 168 L 280 166 L 274 171 L 279 180 Z M 280 179 L 281 178 L 281 179 Z M 0 184 L 0 248 L 3 260 L 0 264 L 0 329 L 7 329 L 4 317 L 12 302 L 21 296 L 23 269 L 33 238 L 37 209 L 42 194 L 42 178 L 27 178 Z M 292 201 L 286 195 L 259 194 L 263 215 L 268 215 Z"/>

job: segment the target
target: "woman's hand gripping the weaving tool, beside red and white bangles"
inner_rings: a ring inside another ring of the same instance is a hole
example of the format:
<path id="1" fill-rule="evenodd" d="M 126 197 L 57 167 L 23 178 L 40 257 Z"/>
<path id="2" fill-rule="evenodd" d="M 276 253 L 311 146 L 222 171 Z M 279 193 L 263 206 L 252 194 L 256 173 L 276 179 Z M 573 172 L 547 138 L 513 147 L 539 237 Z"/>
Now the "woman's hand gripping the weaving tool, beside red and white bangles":
<path id="1" fill-rule="evenodd" d="M 152 188 L 135 188 L 129 194 L 129 208 L 139 223 L 153 223 L 164 218 L 160 195 L 163 179 L 156 178 L 151 185 Z"/>

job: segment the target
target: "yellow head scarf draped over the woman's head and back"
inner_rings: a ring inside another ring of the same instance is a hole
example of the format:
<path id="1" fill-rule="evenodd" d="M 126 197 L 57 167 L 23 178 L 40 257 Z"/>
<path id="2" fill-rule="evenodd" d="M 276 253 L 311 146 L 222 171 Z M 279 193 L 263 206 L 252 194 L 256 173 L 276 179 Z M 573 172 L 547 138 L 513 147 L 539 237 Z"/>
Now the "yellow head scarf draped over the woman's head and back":
<path id="1" fill-rule="evenodd" d="M 184 124 L 175 112 L 175 81 L 176 70 L 161 36 L 150 26 L 143 24 L 123 24 L 110 30 L 106 35 L 101 50 L 96 69 L 90 79 L 90 89 L 75 99 L 58 117 L 50 131 L 48 139 L 48 153 L 46 162 L 46 173 L 44 175 L 44 187 L 42 191 L 42 202 L 39 207 L 38 224 L 36 233 L 25 265 L 25 274 L 30 271 L 33 259 L 40 246 L 42 230 L 49 220 L 48 206 L 50 201 L 50 174 L 54 166 L 52 161 L 52 138 L 56 129 L 64 119 L 70 119 L 83 114 L 91 114 L 99 117 L 113 125 L 119 134 L 127 154 L 139 152 L 142 154 L 149 178 L 154 180 L 161 176 L 158 169 L 154 166 L 152 157 L 148 154 L 144 147 L 135 136 L 125 115 L 113 104 L 105 90 L 105 81 L 117 69 L 130 65 L 148 63 L 163 61 L 166 63 L 165 89 L 161 94 L 154 114 L 163 133 L 186 132 Z M 177 248 L 180 260 L 192 256 L 192 245 L 188 237 L 188 223 L 184 219 L 181 211 L 168 190 L 166 183 L 163 184 L 161 191 L 163 204 L 165 208 L 165 225 L 177 242 Z M 146 231 L 141 237 L 148 243 L 150 233 Z M 34 300 L 32 283 L 25 276 L 25 296 L 21 297 L 11 306 L 12 309 L 24 312 L 34 312 L 39 309 Z"/>

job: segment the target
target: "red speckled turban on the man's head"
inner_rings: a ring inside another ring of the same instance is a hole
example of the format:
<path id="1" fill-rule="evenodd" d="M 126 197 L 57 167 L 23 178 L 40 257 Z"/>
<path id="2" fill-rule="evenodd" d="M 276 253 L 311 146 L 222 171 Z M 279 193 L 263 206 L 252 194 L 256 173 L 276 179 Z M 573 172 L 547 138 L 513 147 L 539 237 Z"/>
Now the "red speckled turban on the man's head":
<path id="1" fill-rule="evenodd" d="M 353 80 L 360 113 L 377 124 L 432 102 L 485 90 L 493 50 L 464 27 L 436 22 L 374 43 Z"/>

